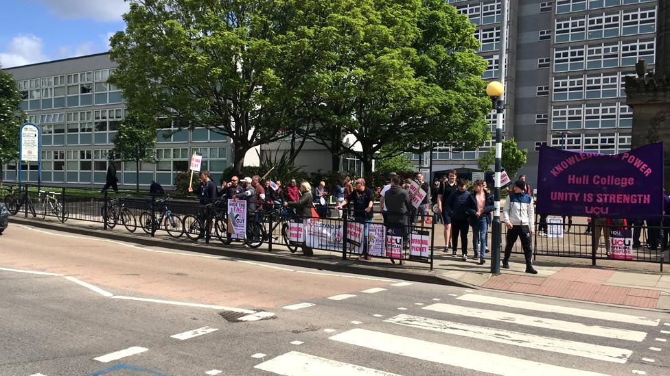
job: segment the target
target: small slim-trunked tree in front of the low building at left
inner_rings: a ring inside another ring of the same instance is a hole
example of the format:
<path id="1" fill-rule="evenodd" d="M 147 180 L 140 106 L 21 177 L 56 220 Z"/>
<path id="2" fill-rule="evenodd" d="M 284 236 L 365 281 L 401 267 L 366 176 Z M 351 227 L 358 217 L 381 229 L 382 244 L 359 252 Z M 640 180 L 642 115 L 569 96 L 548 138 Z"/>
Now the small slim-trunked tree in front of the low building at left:
<path id="1" fill-rule="evenodd" d="M 146 123 L 139 121 L 133 115 L 119 124 L 119 129 L 114 136 L 114 147 L 112 149 L 113 159 L 123 162 L 135 163 L 135 190 L 139 192 L 139 170 L 142 162 L 154 163 L 154 146 L 156 145 L 156 130 L 148 127 Z"/>

